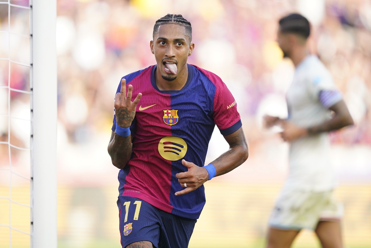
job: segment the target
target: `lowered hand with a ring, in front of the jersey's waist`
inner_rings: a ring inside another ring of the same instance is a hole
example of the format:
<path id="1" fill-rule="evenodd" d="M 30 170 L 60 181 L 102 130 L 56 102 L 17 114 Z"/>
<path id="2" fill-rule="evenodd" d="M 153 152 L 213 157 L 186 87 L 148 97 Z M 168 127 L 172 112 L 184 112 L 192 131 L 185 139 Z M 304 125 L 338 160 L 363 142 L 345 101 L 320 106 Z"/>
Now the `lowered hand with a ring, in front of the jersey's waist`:
<path id="1" fill-rule="evenodd" d="M 180 185 L 186 188 L 175 192 L 175 196 L 187 194 L 200 187 L 209 179 L 209 173 L 205 168 L 199 167 L 192 162 L 185 161 L 184 159 L 182 160 L 182 164 L 188 168 L 188 171 L 177 173 L 175 177 L 178 178 Z"/>

